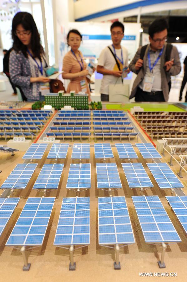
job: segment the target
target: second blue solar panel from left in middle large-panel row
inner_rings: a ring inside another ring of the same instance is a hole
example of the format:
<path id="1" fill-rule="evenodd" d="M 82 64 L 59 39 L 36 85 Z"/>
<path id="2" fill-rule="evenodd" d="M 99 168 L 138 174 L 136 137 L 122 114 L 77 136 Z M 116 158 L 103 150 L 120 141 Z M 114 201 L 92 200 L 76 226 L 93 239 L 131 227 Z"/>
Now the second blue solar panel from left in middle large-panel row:
<path id="1" fill-rule="evenodd" d="M 33 189 L 58 189 L 64 164 L 45 164 Z"/>

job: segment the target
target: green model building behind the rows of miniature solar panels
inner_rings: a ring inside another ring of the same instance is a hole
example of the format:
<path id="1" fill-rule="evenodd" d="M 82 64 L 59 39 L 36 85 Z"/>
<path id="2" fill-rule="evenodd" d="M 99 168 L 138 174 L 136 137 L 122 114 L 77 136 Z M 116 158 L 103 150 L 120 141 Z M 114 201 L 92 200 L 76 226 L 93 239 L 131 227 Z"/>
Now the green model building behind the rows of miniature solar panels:
<path id="1" fill-rule="evenodd" d="M 80 92 L 75 94 L 75 91 L 64 93 L 48 93 L 45 95 L 45 104 L 60 110 L 64 106 L 71 106 L 76 110 L 88 110 L 88 94 Z"/>

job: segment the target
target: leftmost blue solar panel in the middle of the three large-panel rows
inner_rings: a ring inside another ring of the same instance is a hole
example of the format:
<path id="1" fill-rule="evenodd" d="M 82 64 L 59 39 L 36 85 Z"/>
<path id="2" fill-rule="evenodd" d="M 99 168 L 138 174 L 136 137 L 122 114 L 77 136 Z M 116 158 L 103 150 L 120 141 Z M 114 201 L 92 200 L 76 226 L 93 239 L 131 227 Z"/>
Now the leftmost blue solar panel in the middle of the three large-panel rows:
<path id="1" fill-rule="evenodd" d="M 5 182 L 1 189 L 24 189 L 38 164 L 18 164 Z"/>

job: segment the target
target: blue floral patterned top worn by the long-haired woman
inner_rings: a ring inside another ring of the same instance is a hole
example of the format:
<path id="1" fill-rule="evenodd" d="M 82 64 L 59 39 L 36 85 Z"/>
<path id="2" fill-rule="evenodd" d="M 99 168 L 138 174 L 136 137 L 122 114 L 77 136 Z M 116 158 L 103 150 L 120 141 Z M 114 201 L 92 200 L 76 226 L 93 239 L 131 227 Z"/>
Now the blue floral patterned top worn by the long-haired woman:
<path id="1" fill-rule="evenodd" d="M 42 56 L 43 68 L 47 67 L 46 59 Z M 10 52 L 9 72 L 11 81 L 21 86 L 24 95 L 28 100 L 39 100 L 40 82 L 30 82 L 31 77 L 41 76 L 35 61 L 28 55 L 26 58 L 21 51 L 15 50 Z M 46 76 L 43 70 L 43 76 Z"/>

